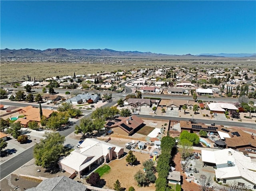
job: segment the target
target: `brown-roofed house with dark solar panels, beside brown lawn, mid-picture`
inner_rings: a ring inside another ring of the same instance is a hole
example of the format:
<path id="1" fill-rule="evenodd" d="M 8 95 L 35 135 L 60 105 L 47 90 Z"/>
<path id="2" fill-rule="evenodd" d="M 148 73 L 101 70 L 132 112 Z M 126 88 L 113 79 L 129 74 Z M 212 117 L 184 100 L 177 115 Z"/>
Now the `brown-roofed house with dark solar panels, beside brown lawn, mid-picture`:
<path id="1" fill-rule="evenodd" d="M 106 128 L 114 133 L 130 136 L 144 126 L 144 121 L 136 115 L 130 117 L 118 117 L 106 123 Z"/>

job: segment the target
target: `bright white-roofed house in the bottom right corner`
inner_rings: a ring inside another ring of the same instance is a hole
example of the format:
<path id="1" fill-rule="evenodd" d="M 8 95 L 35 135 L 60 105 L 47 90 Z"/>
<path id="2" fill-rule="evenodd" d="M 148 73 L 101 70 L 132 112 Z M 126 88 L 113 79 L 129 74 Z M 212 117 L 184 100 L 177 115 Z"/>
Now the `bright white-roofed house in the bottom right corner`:
<path id="1" fill-rule="evenodd" d="M 242 152 L 231 148 L 208 151 L 202 150 L 204 164 L 215 165 L 215 176 L 223 184 L 234 183 L 238 186 L 247 186 L 247 189 L 256 190 L 256 162 Z"/>

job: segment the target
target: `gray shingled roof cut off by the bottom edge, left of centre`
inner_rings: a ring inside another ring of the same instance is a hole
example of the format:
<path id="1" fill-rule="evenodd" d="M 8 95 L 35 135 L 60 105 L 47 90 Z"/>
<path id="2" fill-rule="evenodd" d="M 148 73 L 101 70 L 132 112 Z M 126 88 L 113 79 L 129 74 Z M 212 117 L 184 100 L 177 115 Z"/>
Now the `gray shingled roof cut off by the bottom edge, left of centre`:
<path id="1" fill-rule="evenodd" d="M 87 187 L 66 176 L 44 179 L 35 188 L 26 189 L 26 191 L 86 191 Z"/>

